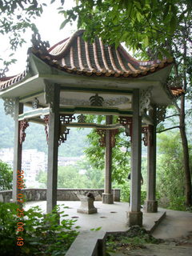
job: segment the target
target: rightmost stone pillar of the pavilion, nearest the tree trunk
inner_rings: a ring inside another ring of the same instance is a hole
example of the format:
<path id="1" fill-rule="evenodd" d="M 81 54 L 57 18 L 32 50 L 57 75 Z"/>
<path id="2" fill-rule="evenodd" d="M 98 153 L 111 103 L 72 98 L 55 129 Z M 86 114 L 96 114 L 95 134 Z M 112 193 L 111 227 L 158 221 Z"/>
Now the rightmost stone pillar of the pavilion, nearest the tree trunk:
<path id="1" fill-rule="evenodd" d="M 156 109 L 151 112 L 154 126 L 148 127 L 147 134 L 147 192 L 144 210 L 148 213 L 158 211 L 158 201 L 156 201 Z"/>

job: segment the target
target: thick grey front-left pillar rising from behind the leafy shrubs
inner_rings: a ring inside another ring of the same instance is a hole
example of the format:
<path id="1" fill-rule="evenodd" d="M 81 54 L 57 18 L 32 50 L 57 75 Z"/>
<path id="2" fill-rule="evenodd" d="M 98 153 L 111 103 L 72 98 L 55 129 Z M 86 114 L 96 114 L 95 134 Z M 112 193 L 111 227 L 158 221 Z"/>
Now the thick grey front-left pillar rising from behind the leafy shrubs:
<path id="1" fill-rule="evenodd" d="M 52 100 L 49 120 L 49 139 L 48 139 L 48 169 L 47 169 L 47 192 L 46 192 L 46 211 L 50 213 L 57 205 L 58 187 L 58 137 L 59 137 L 59 98 L 60 88 L 53 85 Z"/>

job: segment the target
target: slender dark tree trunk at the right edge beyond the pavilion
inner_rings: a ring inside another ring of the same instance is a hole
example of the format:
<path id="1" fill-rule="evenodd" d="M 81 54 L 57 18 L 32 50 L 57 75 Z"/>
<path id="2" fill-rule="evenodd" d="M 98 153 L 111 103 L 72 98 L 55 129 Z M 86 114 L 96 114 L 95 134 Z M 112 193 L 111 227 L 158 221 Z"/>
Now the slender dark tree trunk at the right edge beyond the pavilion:
<path id="1" fill-rule="evenodd" d="M 186 185 L 186 206 L 192 205 L 192 190 L 191 190 L 191 175 L 190 175 L 190 155 L 188 141 L 186 138 L 186 124 L 185 124 L 185 95 L 181 96 L 181 109 L 180 109 L 180 134 L 182 138 L 183 150 L 183 164 Z"/>

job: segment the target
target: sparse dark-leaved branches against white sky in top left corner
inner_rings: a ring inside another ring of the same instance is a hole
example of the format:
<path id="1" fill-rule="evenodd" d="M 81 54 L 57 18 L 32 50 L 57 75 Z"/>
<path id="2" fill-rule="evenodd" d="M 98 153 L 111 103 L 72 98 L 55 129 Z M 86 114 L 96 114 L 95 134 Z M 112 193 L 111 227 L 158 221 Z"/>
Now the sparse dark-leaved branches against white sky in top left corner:
<path id="1" fill-rule="evenodd" d="M 41 16 L 43 6 L 46 4 L 37 0 L 0 1 L 0 34 L 1 36 L 6 34 L 10 41 L 9 60 L 3 60 L 0 56 L 0 66 L 2 66 L 0 77 L 5 75 L 10 64 L 16 62 L 13 55 L 18 46 L 26 42 L 23 36 L 26 30 L 30 29 L 33 32 L 38 30 L 32 21 Z"/>

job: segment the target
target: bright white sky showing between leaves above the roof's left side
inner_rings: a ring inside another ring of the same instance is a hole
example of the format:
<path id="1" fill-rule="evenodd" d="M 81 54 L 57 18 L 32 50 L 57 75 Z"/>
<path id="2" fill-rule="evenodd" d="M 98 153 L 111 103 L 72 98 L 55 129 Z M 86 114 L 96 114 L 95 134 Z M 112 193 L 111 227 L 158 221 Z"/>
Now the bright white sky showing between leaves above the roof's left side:
<path id="1" fill-rule="evenodd" d="M 34 21 L 34 23 L 38 26 L 42 41 L 49 41 L 50 46 L 53 46 L 55 43 L 62 41 L 64 38 L 68 38 L 71 34 L 74 33 L 74 31 L 77 30 L 76 22 L 74 22 L 73 26 L 67 24 L 62 30 L 59 29 L 61 23 L 64 20 L 64 17 L 61 14 L 58 14 L 58 2 L 59 1 L 56 1 L 56 3 L 54 2 L 54 4 L 48 5 L 45 8 L 42 16 Z M 72 6 L 74 6 L 74 1 L 65 1 L 64 7 L 66 10 L 70 9 Z M 6 73 L 6 76 L 19 74 L 26 69 L 27 50 L 31 46 L 30 31 L 26 32 L 24 36 L 26 44 L 23 45 L 22 48 L 18 48 L 14 56 L 18 62 L 10 66 L 10 70 Z M 7 56 L 9 54 L 9 41 L 8 37 L 5 36 L 1 38 L 0 56 L 5 59 L 8 58 Z"/>

